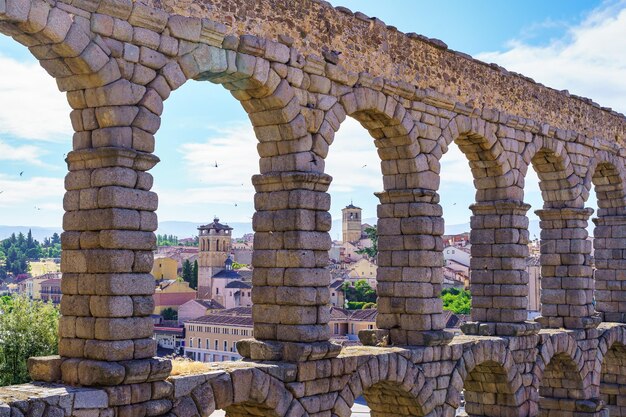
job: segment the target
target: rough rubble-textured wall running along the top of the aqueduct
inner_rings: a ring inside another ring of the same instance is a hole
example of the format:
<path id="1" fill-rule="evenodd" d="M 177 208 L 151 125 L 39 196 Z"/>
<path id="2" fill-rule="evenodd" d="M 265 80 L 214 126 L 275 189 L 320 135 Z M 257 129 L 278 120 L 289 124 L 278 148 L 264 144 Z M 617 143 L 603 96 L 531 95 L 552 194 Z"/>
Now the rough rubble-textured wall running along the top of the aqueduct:
<path id="1" fill-rule="evenodd" d="M 168 13 L 223 22 L 234 33 L 272 39 L 288 36 L 305 55 L 321 57 L 324 51 L 338 51 L 339 62 L 351 71 L 432 89 L 453 103 L 498 109 L 622 144 L 626 140 L 623 115 L 601 109 L 589 99 L 551 89 L 449 50 L 439 40 L 404 34 L 375 17 L 333 8 L 325 1 L 153 0 L 150 4 Z"/>

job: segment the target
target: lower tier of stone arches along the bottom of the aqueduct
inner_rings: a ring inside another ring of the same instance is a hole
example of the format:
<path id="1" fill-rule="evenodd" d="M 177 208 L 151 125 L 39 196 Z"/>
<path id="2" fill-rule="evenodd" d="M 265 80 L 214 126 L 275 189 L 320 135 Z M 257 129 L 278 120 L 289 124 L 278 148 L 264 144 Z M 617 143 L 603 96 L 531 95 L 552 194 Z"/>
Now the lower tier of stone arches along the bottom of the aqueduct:
<path id="1" fill-rule="evenodd" d="M 349 417 L 363 395 L 372 416 L 626 416 L 626 326 L 456 336 L 447 346 L 344 348 L 306 362 L 222 362 L 166 381 L 82 389 L 0 389 L 7 416 Z M 3 408 L 4 407 L 4 408 Z M 8 411 L 8 407 L 11 411 Z M 20 414 L 21 413 L 21 414 Z M 4 414 L 3 414 L 4 415 Z"/>

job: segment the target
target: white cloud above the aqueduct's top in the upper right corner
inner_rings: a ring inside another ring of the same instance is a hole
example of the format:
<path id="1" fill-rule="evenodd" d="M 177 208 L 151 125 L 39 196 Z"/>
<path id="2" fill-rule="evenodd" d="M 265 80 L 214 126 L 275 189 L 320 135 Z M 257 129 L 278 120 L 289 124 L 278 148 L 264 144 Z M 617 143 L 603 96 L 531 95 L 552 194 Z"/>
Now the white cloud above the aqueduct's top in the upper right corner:
<path id="1" fill-rule="evenodd" d="M 626 112 L 625 50 L 626 1 L 620 0 L 592 11 L 566 36 L 547 45 L 513 40 L 504 52 L 482 53 L 476 58 Z"/>

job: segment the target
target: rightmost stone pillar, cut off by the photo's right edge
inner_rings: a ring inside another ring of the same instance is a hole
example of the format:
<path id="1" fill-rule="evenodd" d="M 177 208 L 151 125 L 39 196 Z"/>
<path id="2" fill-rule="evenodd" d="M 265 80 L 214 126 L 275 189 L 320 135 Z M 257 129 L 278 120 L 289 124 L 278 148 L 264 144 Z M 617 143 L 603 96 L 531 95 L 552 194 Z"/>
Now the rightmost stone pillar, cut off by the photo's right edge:
<path id="1" fill-rule="evenodd" d="M 593 222 L 596 310 L 604 321 L 626 323 L 626 215 Z"/>

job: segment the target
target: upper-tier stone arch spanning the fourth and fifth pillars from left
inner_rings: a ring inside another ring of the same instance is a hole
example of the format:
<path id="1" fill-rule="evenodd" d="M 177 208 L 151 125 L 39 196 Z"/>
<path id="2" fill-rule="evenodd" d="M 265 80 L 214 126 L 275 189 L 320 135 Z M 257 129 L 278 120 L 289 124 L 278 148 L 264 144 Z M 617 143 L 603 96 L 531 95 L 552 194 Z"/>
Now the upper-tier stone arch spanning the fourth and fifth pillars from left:
<path id="1" fill-rule="evenodd" d="M 532 167 L 539 177 L 544 208 L 581 207 L 582 188 L 563 141 L 535 135 L 522 153 L 526 177 Z"/>

